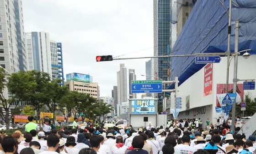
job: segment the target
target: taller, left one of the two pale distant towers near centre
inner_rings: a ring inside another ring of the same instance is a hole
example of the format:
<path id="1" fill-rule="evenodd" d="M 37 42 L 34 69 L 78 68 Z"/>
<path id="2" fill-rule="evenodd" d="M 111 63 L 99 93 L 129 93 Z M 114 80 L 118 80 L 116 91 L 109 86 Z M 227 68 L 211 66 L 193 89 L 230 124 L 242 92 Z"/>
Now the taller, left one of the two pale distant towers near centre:
<path id="1" fill-rule="evenodd" d="M 117 71 L 117 103 L 127 102 L 127 69 L 124 64 L 120 64 Z"/>

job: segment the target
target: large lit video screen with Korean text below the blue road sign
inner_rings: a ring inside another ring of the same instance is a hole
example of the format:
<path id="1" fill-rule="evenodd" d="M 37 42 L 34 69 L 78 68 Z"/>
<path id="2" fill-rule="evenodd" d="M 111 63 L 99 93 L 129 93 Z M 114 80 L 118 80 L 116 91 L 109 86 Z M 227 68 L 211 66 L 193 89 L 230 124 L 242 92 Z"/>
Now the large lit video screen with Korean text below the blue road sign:
<path id="1" fill-rule="evenodd" d="M 131 114 L 156 114 L 157 100 L 131 99 L 129 100 Z"/>

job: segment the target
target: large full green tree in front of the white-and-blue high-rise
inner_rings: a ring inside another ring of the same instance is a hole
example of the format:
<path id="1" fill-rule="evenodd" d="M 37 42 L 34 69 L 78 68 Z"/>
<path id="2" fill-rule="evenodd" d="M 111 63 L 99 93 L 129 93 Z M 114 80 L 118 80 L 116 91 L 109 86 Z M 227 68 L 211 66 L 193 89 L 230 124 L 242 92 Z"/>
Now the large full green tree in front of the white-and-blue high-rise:
<path id="1" fill-rule="evenodd" d="M 50 75 L 36 70 L 13 73 L 8 86 L 12 86 L 10 92 L 17 98 L 27 101 L 37 111 L 37 120 L 40 119 L 40 111 L 43 104 L 50 101 L 47 85 L 51 81 Z M 15 88 L 16 87 L 16 88 Z"/>

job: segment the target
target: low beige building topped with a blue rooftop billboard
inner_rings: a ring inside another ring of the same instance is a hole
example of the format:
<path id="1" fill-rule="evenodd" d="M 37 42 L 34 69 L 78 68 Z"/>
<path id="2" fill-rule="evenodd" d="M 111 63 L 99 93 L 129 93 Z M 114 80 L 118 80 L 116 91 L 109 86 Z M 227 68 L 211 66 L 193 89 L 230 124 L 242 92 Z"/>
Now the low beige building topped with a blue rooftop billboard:
<path id="1" fill-rule="evenodd" d="M 70 73 L 66 75 L 66 80 L 64 84 L 69 87 L 70 91 L 90 94 L 91 97 L 99 99 L 99 86 L 98 83 L 93 82 L 91 75 Z"/>

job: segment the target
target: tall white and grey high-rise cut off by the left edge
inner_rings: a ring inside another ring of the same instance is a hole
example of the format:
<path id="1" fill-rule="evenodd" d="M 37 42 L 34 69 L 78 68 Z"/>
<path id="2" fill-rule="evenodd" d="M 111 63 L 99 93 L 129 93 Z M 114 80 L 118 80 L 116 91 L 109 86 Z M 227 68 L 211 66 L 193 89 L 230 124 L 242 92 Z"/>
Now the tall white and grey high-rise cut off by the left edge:
<path id="1" fill-rule="evenodd" d="M 0 0 L 0 66 L 10 74 L 27 71 L 21 0 Z"/>

